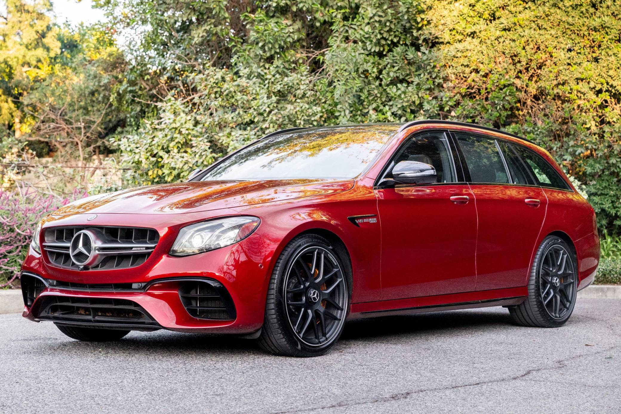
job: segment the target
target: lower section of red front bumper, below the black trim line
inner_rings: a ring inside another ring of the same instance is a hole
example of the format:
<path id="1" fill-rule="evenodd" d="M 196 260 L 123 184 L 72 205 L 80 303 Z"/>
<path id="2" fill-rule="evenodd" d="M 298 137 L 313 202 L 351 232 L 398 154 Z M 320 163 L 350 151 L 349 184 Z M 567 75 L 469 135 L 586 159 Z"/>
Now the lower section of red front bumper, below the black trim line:
<path id="1" fill-rule="evenodd" d="M 46 285 L 48 280 L 29 273 L 22 274 L 22 280 L 25 303 L 22 316 L 32 321 L 141 331 L 161 328 L 183 332 L 244 331 L 237 323 L 237 312 L 230 295 L 221 283 L 209 278 L 160 279 L 142 288 L 125 290 L 121 287 L 123 290 L 116 291 L 112 288 L 97 290 L 98 285 L 88 288 L 54 287 Z M 42 283 L 45 288 L 41 287 Z M 184 302 L 184 288 L 197 283 L 217 289 L 223 306 L 204 306 L 202 309 L 222 310 L 223 320 L 210 319 L 211 315 L 207 318 L 191 315 L 198 307 L 197 302 Z"/>

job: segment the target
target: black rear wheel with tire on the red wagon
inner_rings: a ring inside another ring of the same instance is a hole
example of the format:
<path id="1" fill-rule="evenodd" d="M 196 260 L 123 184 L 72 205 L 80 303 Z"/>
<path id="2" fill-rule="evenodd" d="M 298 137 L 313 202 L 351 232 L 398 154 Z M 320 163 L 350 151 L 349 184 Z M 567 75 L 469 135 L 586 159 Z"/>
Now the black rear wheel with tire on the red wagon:
<path id="1" fill-rule="evenodd" d="M 578 292 L 578 264 L 573 249 L 556 236 L 543 239 L 530 269 L 528 296 L 509 308 L 515 324 L 556 328 L 571 316 Z"/>

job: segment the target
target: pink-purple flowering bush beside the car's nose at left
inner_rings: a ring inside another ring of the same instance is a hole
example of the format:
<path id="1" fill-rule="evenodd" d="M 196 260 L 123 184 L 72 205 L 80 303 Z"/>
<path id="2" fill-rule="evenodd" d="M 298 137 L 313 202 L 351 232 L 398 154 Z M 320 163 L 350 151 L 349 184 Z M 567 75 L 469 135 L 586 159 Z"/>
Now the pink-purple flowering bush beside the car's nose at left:
<path id="1" fill-rule="evenodd" d="M 0 288 L 17 285 L 14 281 L 39 221 L 84 196 L 86 191 L 79 190 L 66 198 L 20 186 L 14 191 L 0 190 Z"/>

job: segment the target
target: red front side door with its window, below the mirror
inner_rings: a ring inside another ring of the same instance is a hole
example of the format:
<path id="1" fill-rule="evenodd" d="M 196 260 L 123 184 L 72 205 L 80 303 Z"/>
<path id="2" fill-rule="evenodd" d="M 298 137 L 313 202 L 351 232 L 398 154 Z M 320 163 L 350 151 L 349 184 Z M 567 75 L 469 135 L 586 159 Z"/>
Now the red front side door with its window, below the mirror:
<path id="1" fill-rule="evenodd" d="M 391 178 L 397 162 L 428 163 L 437 182 L 382 188 L 380 180 L 375 190 L 382 300 L 475 290 L 476 208 L 455 158 L 448 133 L 425 132 L 407 140 L 386 168 L 383 178 Z"/>

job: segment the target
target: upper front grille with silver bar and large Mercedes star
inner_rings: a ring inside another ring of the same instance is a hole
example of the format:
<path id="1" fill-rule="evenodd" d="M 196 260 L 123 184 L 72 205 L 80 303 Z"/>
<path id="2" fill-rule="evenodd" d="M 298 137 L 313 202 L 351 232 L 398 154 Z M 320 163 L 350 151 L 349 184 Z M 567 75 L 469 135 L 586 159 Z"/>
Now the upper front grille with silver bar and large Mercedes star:
<path id="1" fill-rule="evenodd" d="M 102 259 L 89 270 L 125 269 L 135 267 L 147 261 L 155 249 L 160 235 L 155 229 L 134 227 L 55 227 L 45 230 L 43 249 L 51 264 L 66 269 L 79 269 L 71 260 L 71 239 L 76 232 L 84 229 L 97 231 L 101 234 L 101 244 L 97 246 L 97 254 Z M 93 248 L 86 239 L 86 247 Z M 84 261 L 88 256 L 79 252 L 76 259 Z"/>

